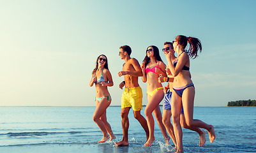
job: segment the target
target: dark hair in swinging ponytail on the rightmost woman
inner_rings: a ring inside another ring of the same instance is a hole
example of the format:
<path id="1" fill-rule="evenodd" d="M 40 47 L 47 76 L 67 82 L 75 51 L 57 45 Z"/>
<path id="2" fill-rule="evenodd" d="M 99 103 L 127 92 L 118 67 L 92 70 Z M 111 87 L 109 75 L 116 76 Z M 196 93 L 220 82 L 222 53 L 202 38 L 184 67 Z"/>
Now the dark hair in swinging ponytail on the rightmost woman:
<path id="1" fill-rule="evenodd" d="M 191 59 L 195 59 L 197 57 L 197 51 L 200 49 L 200 52 L 202 52 L 202 44 L 201 41 L 198 38 L 194 37 L 186 37 L 183 35 L 179 35 L 175 39 L 183 49 L 186 48 L 186 45 L 188 43 L 190 44 L 190 48 L 186 51 L 186 53 L 190 56 Z"/>

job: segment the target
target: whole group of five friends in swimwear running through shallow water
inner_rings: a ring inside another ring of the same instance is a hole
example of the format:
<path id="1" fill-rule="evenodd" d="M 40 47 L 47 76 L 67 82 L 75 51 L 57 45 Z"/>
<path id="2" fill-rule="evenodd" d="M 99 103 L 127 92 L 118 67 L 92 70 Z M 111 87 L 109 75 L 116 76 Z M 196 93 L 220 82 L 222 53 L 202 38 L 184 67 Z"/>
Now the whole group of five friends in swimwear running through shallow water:
<path id="1" fill-rule="evenodd" d="M 189 48 L 185 50 L 187 45 Z M 135 119 L 139 121 L 146 132 L 147 140 L 144 146 L 151 146 L 155 140 L 153 114 L 162 131 L 165 143 L 169 145 L 171 138 L 177 152 L 183 152 L 181 127 L 199 133 L 200 147 L 206 142 L 206 132 L 200 128 L 208 131 L 209 140 L 213 143 L 215 140 L 213 126 L 202 120 L 193 119 L 195 87 L 191 80 L 190 59 L 195 59 L 198 52 L 202 51 L 200 40 L 179 35 L 174 41 L 165 42 L 162 51 L 167 59 L 167 66 L 163 63 L 156 46 L 147 47 L 146 57 L 142 64 L 139 64 L 137 59 L 130 57 L 132 49 L 128 45 L 121 46 L 119 49 L 119 56 L 124 60 L 123 70 L 118 72 L 119 77 L 124 76 L 124 81 L 119 84 L 119 87 L 123 89 L 125 86 L 125 88 L 121 98 L 123 140 L 115 142 L 117 147 L 129 145 L 128 113 L 130 108 L 133 109 Z M 177 52 L 177 57 L 174 52 Z M 140 113 L 142 110 L 142 89 L 138 83 L 139 77 L 142 77 L 142 82 L 147 82 L 146 119 Z M 162 82 L 169 82 L 169 84 L 163 87 Z M 93 69 L 89 86 L 92 87 L 94 84 L 96 87 L 96 110 L 93 114 L 93 120 L 103 133 L 103 138 L 99 143 L 109 139 L 112 141 L 116 136 L 107 122 L 106 110 L 112 101 L 107 87 L 114 84 L 106 55 L 100 55 L 96 60 L 96 68 Z M 162 115 L 159 104 L 163 98 Z M 170 122 L 171 117 L 172 123 Z"/>

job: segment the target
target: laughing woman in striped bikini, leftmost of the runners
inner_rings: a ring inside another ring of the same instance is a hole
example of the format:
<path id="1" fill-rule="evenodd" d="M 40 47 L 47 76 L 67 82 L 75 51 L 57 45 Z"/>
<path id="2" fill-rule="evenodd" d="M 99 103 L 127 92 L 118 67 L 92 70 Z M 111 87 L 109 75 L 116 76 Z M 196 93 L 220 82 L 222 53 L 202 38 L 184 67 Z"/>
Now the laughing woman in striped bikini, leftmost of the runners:
<path id="1" fill-rule="evenodd" d="M 107 86 L 111 87 L 114 84 L 107 64 L 107 57 L 105 55 L 99 55 L 97 58 L 96 68 L 93 69 L 89 86 L 92 87 L 93 84 L 95 84 L 96 88 L 96 110 L 93 114 L 93 120 L 102 130 L 103 138 L 99 143 L 103 143 L 109 139 L 109 141 L 111 141 L 116 138 L 112 132 L 109 122 L 107 122 L 106 115 L 106 110 L 112 100 Z"/>

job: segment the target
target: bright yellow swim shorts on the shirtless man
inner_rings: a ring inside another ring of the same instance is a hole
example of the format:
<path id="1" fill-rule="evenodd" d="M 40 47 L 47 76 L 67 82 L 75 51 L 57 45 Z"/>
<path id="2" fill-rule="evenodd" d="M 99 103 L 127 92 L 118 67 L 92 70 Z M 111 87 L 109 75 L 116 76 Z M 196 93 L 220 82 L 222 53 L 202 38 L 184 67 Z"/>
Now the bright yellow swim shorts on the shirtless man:
<path id="1" fill-rule="evenodd" d="M 142 89 L 125 88 L 121 98 L 121 108 L 132 107 L 133 111 L 142 110 Z"/>

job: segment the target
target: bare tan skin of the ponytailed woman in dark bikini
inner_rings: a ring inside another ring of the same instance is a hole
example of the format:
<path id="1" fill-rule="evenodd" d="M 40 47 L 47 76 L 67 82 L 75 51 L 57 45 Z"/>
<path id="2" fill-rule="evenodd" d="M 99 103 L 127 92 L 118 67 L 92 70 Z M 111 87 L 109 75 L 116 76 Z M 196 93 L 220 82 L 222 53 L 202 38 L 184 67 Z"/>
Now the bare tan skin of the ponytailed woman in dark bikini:
<path id="1" fill-rule="evenodd" d="M 170 50 L 169 54 L 165 54 L 168 61 L 169 71 L 167 71 L 167 75 L 170 73 L 174 76 L 174 87 L 183 87 L 188 84 L 192 84 L 190 71 L 182 70 L 183 66 L 190 66 L 190 59 L 188 54 L 184 53 L 184 48 L 177 43 L 177 40 L 173 44 L 174 51 L 178 54 L 178 62 L 176 68 L 172 65 L 174 62 L 174 52 Z M 172 92 L 172 122 L 174 124 L 174 134 L 176 137 L 177 142 L 177 152 L 183 152 L 183 142 L 182 142 L 182 129 L 180 124 L 180 112 L 181 107 L 183 106 L 184 109 L 184 119 L 186 120 L 187 126 L 190 128 L 204 128 L 207 129 L 209 133 L 209 140 L 212 143 L 215 140 L 215 130 L 213 126 L 202 122 L 201 120 L 193 119 L 193 105 L 194 105 L 194 98 L 195 98 L 195 88 L 194 87 L 187 87 L 184 92 L 183 96 L 180 97 L 176 92 Z"/>

